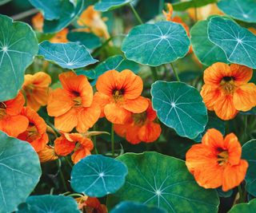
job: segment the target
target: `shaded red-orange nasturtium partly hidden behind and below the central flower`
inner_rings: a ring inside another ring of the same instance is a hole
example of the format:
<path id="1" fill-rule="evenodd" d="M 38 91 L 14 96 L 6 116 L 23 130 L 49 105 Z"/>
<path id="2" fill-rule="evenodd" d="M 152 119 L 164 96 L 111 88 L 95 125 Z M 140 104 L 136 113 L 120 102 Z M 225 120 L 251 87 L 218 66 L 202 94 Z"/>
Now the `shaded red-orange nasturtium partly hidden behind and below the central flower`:
<path id="1" fill-rule="evenodd" d="M 126 124 L 114 124 L 114 131 L 131 144 L 138 144 L 141 141 L 146 143 L 154 142 L 161 134 L 160 124 L 154 122 L 157 115 L 152 108 L 151 101 L 146 112 L 133 113 Z"/>

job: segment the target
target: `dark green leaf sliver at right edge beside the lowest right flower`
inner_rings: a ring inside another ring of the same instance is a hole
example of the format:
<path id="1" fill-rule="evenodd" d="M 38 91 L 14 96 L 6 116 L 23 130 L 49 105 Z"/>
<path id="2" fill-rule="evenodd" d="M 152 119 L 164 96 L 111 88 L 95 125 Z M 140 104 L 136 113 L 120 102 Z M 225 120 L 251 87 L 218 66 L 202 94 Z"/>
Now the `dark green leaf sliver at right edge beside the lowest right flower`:
<path id="1" fill-rule="evenodd" d="M 246 191 L 256 196 L 256 140 L 250 140 L 242 146 L 242 159 L 248 161 L 246 172 Z"/>

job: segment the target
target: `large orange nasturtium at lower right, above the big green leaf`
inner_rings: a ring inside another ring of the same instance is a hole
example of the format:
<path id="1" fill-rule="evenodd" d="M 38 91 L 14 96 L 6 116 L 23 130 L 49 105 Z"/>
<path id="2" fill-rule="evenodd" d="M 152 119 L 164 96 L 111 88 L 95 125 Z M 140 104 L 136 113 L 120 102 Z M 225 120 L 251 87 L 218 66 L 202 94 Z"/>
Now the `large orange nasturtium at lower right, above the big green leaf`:
<path id="1" fill-rule="evenodd" d="M 229 191 L 245 179 L 248 163 L 241 160 L 241 155 L 241 144 L 233 133 L 223 138 L 221 132 L 210 128 L 202 144 L 186 152 L 186 166 L 200 186 L 222 186 L 223 191 Z"/>

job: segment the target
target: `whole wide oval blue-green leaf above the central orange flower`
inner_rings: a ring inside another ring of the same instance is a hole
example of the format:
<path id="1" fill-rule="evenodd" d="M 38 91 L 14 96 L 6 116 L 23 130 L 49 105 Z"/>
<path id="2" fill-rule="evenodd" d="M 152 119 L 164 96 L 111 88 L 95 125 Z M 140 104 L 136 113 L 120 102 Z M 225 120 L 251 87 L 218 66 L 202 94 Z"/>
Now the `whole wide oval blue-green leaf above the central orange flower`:
<path id="1" fill-rule="evenodd" d="M 122 43 L 126 58 L 151 66 L 176 61 L 184 57 L 189 48 L 186 31 L 174 22 L 135 26 Z"/>

